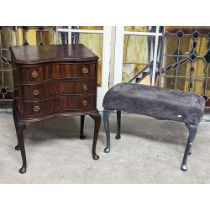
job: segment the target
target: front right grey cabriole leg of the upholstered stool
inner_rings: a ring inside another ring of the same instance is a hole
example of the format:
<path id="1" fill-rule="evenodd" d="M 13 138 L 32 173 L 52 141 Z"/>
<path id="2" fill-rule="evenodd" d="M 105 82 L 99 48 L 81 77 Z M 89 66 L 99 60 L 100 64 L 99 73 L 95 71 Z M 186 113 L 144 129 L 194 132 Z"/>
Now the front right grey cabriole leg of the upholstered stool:
<path id="1" fill-rule="evenodd" d="M 191 147 L 192 147 L 193 141 L 194 141 L 196 133 L 197 133 L 196 125 L 189 125 L 189 124 L 185 124 L 185 125 L 189 130 L 189 137 L 187 140 L 187 145 L 185 148 L 185 153 L 184 153 L 184 157 L 183 157 L 183 161 L 182 161 L 182 165 L 181 165 L 182 171 L 187 171 L 187 158 L 188 158 L 188 155 L 191 154 Z"/>

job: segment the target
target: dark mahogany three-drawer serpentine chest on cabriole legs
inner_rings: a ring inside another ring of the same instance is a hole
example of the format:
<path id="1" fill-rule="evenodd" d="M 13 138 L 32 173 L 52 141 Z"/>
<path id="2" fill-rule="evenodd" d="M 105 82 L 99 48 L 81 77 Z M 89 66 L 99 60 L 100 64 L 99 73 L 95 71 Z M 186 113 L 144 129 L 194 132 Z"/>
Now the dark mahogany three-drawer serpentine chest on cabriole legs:
<path id="1" fill-rule="evenodd" d="M 96 108 L 98 57 L 83 45 L 11 47 L 14 79 L 13 116 L 26 172 L 23 131 L 30 123 L 56 116 L 81 116 L 80 138 L 84 139 L 84 117 L 95 122 L 93 159 L 101 116 Z"/>

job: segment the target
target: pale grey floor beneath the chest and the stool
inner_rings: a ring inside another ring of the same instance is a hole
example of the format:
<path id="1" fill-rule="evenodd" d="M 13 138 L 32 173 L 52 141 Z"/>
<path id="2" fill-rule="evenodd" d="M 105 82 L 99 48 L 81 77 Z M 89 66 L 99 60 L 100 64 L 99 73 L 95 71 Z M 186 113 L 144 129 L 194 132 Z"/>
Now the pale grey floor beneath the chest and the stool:
<path id="1" fill-rule="evenodd" d="M 85 121 L 80 140 L 79 117 L 54 118 L 25 131 L 27 173 L 21 175 L 20 152 L 11 112 L 0 113 L 0 183 L 210 183 L 210 123 L 200 124 L 187 172 L 180 170 L 187 130 L 183 124 L 123 114 L 122 137 L 115 140 L 111 115 L 111 152 L 100 130 L 98 161 L 91 157 L 93 121 Z"/>

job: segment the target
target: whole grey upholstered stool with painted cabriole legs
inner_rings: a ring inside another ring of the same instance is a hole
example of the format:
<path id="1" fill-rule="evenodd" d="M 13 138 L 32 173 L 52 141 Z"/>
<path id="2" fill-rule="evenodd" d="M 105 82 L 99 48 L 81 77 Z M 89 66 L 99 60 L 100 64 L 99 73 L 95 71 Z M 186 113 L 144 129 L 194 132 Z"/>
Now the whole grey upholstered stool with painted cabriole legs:
<path id="1" fill-rule="evenodd" d="M 197 127 L 204 112 L 205 100 L 202 96 L 180 90 L 119 83 L 108 90 L 104 96 L 103 107 L 107 144 L 104 152 L 106 153 L 110 152 L 109 115 L 114 110 L 117 111 L 116 139 L 120 139 L 121 136 L 121 111 L 185 123 L 189 130 L 189 137 L 181 169 L 187 170 L 187 158 L 191 153 Z"/>

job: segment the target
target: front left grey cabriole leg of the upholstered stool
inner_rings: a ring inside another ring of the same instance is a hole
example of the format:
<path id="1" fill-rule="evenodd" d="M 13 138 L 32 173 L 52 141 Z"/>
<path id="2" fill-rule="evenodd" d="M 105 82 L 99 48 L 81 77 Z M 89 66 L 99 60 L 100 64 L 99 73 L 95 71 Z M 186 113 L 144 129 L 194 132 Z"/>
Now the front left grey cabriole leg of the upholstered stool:
<path id="1" fill-rule="evenodd" d="M 104 121 L 104 129 L 106 133 L 106 147 L 104 149 L 105 153 L 110 152 L 110 130 L 109 130 L 109 115 L 112 110 L 104 109 L 103 111 L 103 121 Z"/>

